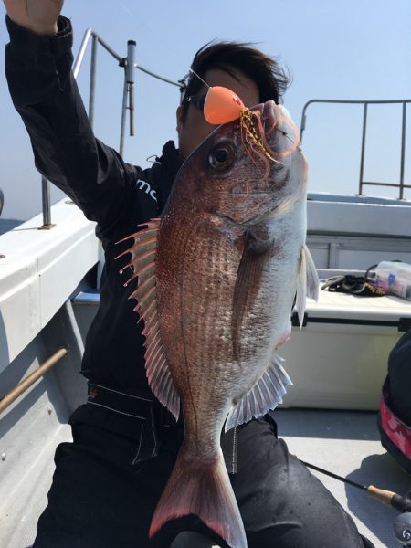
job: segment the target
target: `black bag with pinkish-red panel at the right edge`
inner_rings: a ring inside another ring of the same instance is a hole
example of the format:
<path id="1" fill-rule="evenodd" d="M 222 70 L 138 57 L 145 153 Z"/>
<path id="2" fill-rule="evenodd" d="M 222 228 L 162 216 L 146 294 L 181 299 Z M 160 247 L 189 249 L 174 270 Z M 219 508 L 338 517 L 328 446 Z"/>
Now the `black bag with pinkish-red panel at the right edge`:
<path id="1" fill-rule="evenodd" d="M 389 355 L 378 428 L 383 447 L 411 474 L 411 330 Z"/>

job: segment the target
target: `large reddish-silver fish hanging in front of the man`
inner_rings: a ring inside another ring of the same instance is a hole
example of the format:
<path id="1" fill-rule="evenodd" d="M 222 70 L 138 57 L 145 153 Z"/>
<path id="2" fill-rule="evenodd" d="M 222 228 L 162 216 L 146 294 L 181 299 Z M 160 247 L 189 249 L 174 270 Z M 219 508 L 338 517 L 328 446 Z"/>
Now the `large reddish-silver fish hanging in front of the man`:
<path id="1" fill-rule="evenodd" d="M 220 434 L 282 402 L 277 348 L 295 306 L 318 297 L 306 237 L 307 162 L 283 105 L 218 126 L 185 160 L 163 213 L 138 227 L 130 295 L 144 321 L 145 367 L 184 442 L 149 536 L 190 513 L 246 548 Z M 121 269 L 122 271 L 123 269 Z"/>

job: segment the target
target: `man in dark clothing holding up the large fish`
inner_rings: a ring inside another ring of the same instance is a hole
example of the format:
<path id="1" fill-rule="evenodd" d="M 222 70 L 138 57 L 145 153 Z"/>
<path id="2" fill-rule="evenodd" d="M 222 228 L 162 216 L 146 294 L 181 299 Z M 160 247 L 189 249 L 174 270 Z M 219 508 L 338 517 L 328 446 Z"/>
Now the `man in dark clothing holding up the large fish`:
<path id="1" fill-rule="evenodd" d="M 62 4 L 5 0 L 10 33 L 6 75 L 37 168 L 97 221 L 106 263 L 100 310 L 82 365 L 89 400 L 70 417 L 73 443 L 57 448 L 34 548 L 167 547 L 178 532 L 212 532 L 187 516 L 148 540 L 184 426 L 155 401 L 147 384 L 141 327 L 128 300 L 135 285 L 124 289 L 130 275 L 119 270 L 126 259 L 115 261 L 127 244 L 121 248 L 115 242 L 161 213 L 181 163 L 214 126 L 201 110 L 206 88 L 192 76 L 177 109 L 179 151 L 167 142 L 163 156 L 146 170 L 124 163 L 91 132 L 70 72 L 72 30 L 68 19 L 59 16 Z M 287 84 L 274 61 L 246 45 L 205 47 L 193 69 L 209 85 L 235 91 L 248 107 L 279 102 Z M 146 184 L 150 193 L 143 190 Z M 289 455 L 271 416 L 228 433 L 222 443 L 250 548 L 372 546 L 321 482 Z"/>

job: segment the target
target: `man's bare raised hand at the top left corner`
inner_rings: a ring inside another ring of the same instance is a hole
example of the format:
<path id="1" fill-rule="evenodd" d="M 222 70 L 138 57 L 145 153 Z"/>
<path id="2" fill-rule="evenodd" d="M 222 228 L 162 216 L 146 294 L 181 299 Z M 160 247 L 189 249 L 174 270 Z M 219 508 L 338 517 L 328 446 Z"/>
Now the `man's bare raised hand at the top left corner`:
<path id="1" fill-rule="evenodd" d="M 39 35 L 58 31 L 57 20 L 64 0 L 4 0 L 12 21 Z"/>

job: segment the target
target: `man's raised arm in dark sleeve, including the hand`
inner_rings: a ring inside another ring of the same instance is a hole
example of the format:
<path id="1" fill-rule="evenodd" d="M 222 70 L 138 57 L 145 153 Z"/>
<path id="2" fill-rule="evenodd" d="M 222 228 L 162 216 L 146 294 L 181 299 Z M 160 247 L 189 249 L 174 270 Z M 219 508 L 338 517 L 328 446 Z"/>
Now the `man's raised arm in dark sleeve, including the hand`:
<path id="1" fill-rule="evenodd" d="M 5 74 L 41 174 L 85 215 L 113 227 L 142 170 L 94 137 L 71 72 L 72 29 L 61 0 L 5 0 Z M 55 32 L 57 31 L 57 32 Z"/>

